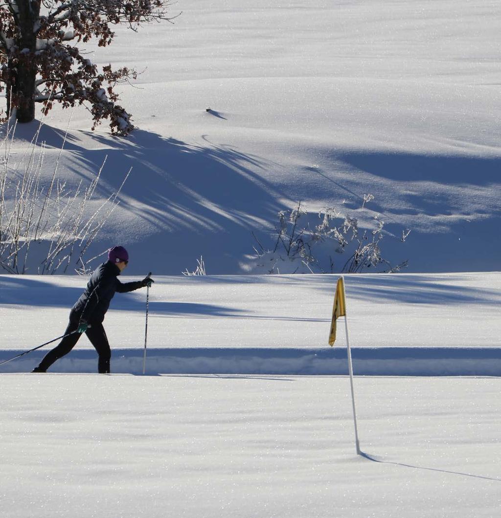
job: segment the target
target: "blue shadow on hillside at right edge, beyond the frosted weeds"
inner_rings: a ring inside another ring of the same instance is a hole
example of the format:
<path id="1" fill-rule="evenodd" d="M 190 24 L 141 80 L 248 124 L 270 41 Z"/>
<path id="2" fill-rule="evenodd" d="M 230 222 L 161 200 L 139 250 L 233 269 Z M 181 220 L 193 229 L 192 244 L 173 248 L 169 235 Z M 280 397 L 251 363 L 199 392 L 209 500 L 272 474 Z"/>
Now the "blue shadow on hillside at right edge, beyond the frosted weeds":
<path id="1" fill-rule="evenodd" d="M 392 264 L 408 259 L 410 272 L 499 269 L 501 156 L 326 150 L 323 159 L 327 165 L 305 167 L 320 179 L 310 196 L 331 195 L 352 217 L 377 215 L 385 222 L 382 255 Z M 366 193 L 375 198 L 361 211 Z"/>

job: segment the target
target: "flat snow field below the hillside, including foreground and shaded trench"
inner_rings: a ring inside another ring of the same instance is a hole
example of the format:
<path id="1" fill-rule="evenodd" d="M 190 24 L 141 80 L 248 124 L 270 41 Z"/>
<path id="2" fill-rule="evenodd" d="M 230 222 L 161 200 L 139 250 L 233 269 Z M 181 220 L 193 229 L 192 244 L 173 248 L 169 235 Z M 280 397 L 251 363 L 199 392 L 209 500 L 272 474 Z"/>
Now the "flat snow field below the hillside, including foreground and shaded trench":
<path id="1" fill-rule="evenodd" d="M 148 371 L 203 374 L 90 374 L 96 354 L 84 337 L 56 373 L 19 373 L 37 352 L 4 364 L 0 515 L 497 516 L 499 274 L 346 276 L 356 374 L 369 365 L 421 375 L 355 377 L 362 456 L 346 376 L 220 373 L 320 372 L 333 358 L 345 369 L 342 319 L 327 345 L 336 279 L 157 277 Z M 83 281 L 1 276 L 0 360 L 62 332 Z M 141 371 L 144 295 L 112 301 L 113 372 Z M 419 365 L 406 347 L 417 345 Z M 404 351 L 401 362 L 389 351 Z M 497 377 L 425 376 L 488 367 Z"/>

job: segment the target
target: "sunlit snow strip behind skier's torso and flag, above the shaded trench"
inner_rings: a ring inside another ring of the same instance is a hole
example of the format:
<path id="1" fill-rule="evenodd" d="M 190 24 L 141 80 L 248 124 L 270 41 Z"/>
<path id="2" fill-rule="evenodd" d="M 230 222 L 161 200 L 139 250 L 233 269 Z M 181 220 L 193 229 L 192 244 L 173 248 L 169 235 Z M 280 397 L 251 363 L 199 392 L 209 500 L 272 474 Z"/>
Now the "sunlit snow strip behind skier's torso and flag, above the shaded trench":
<path id="1" fill-rule="evenodd" d="M 327 344 L 336 275 L 153 278 L 150 347 Z M 0 349 L 35 347 L 63 334 L 86 281 L 80 276 L 0 276 L 0 319 L 9 322 L 2 326 Z M 499 273 L 362 274 L 345 276 L 345 284 L 352 347 L 500 345 Z M 145 289 L 115 294 L 105 319 L 114 347 L 143 347 L 145 300 Z M 86 338 L 78 347 L 92 348 Z"/>

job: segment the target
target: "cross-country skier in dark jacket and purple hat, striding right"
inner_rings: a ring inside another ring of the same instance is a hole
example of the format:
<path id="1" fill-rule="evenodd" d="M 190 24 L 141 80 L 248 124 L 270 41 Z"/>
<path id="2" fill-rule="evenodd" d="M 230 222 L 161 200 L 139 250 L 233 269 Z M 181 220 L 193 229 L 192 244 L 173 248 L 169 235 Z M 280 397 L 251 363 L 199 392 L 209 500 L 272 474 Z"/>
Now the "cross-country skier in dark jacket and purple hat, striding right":
<path id="1" fill-rule="evenodd" d="M 151 286 L 154 282 L 150 277 L 145 277 L 142 281 L 121 283 L 117 276 L 121 274 L 128 262 L 129 254 L 125 248 L 113 247 L 108 250 L 108 262 L 101 264 L 94 271 L 85 291 L 71 308 L 69 324 L 64 333 L 68 336 L 49 351 L 32 372 L 47 372 L 57 359 L 68 354 L 75 347 L 82 333 L 87 335 L 99 355 L 98 372 L 102 374 L 110 372 L 111 350 L 105 328 L 102 326 L 110 301 L 115 292 L 131 292 L 141 287 Z"/>

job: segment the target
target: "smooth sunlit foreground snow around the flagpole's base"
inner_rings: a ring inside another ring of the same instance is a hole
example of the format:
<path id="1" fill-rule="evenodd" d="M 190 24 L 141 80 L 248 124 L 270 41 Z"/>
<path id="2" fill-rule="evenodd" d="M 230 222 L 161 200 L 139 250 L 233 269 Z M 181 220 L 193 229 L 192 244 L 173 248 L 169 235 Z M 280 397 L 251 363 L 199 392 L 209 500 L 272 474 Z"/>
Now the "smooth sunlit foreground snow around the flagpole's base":
<path id="1" fill-rule="evenodd" d="M 0 377 L 9 518 L 494 518 L 493 378 Z M 375 462 L 377 461 L 377 462 Z"/>

